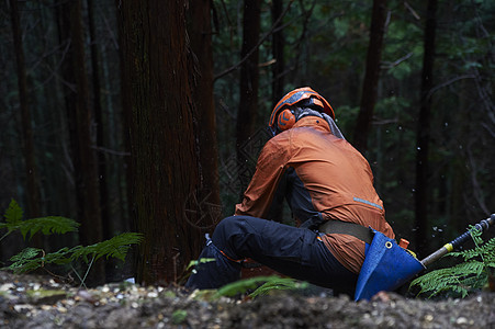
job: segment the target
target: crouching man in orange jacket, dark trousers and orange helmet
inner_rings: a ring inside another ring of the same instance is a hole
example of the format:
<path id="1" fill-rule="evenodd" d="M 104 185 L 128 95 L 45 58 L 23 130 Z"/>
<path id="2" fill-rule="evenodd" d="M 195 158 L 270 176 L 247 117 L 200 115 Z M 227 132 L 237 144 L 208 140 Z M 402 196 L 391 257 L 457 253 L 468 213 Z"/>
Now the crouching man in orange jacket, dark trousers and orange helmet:
<path id="1" fill-rule="evenodd" d="M 344 138 L 330 104 L 311 88 L 273 109 L 271 138 L 252 180 L 207 239 L 187 287 L 216 288 L 239 279 L 246 258 L 284 275 L 352 295 L 370 227 L 394 238 L 368 161 Z M 282 201 L 299 227 L 280 224 Z M 279 220 L 280 222 L 280 220 Z"/>

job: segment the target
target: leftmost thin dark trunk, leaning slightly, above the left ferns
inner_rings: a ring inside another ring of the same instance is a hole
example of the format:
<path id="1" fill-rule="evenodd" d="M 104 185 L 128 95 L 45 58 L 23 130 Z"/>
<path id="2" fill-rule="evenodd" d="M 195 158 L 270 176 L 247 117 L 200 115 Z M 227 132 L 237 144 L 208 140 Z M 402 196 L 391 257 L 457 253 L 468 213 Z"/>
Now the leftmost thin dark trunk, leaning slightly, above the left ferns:
<path id="1" fill-rule="evenodd" d="M 10 0 L 10 16 L 12 23 L 12 35 L 15 52 L 15 61 L 18 68 L 19 102 L 22 117 L 22 139 L 23 155 L 26 173 L 26 201 L 27 218 L 38 217 L 41 215 L 40 180 L 37 177 L 36 159 L 34 154 L 33 128 L 31 125 L 31 113 L 27 94 L 27 77 L 24 61 L 24 49 L 22 46 L 22 31 L 19 18 L 18 0 Z M 37 245 L 41 243 L 40 237 Z M 41 246 L 38 246 L 41 247 Z"/>

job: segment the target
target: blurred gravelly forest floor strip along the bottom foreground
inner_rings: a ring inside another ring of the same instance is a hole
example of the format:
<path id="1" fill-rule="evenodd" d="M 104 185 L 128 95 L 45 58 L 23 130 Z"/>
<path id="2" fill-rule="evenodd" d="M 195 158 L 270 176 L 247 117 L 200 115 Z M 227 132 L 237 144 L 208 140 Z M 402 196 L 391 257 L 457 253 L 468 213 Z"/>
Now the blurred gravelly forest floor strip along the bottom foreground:
<path id="1" fill-rule="evenodd" d="M 0 328 L 495 328 L 495 293 L 371 302 L 279 292 L 249 300 L 126 282 L 80 290 L 0 271 Z"/>

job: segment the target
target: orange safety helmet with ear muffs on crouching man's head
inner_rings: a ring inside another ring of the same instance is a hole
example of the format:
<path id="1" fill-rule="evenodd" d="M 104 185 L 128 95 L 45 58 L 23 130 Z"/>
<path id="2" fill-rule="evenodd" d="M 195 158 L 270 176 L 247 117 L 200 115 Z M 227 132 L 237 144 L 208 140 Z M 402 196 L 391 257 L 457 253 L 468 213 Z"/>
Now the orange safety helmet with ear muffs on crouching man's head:
<path id="1" fill-rule="evenodd" d="M 286 131 L 294 125 L 295 115 L 291 106 L 296 104 L 326 113 L 335 120 L 334 109 L 319 93 L 310 87 L 299 88 L 284 95 L 273 107 L 268 123 L 273 133 Z"/>

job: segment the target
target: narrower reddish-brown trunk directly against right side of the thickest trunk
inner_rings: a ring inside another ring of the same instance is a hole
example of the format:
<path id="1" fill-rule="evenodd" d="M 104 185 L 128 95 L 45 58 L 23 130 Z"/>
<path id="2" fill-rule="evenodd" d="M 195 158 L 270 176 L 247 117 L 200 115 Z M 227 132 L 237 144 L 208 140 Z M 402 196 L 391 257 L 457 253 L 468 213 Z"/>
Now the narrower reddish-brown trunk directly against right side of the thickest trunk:
<path id="1" fill-rule="evenodd" d="M 201 213 L 196 225 L 211 229 L 221 219 L 218 190 L 218 149 L 216 140 L 215 104 L 213 99 L 213 50 L 211 0 L 196 1 L 189 8 L 189 35 L 194 53 L 195 84 L 192 95 L 198 113 L 201 191 L 199 200 L 188 205 Z"/>

